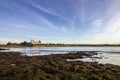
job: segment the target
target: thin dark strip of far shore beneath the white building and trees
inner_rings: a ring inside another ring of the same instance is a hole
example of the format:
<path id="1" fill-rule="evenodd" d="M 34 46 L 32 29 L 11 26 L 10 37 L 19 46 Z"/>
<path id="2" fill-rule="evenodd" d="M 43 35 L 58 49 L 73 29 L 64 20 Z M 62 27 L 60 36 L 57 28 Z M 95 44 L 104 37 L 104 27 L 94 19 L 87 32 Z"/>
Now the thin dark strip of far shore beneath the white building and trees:
<path id="1" fill-rule="evenodd" d="M 19 48 L 19 47 L 119 47 L 120 44 L 53 44 L 53 43 L 41 43 L 41 44 L 10 44 L 0 45 L 5 48 Z"/>

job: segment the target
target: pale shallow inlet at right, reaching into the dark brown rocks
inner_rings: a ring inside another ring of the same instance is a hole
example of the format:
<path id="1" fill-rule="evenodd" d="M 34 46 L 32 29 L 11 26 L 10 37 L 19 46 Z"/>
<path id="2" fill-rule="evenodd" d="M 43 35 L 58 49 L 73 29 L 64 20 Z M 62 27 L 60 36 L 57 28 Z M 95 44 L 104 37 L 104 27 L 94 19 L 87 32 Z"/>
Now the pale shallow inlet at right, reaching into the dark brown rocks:
<path id="1" fill-rule="evenodd" d="M 84 61 L 84 62 L 98 62 L 99 64 L 114 64 L 120 65 L 120 54 L 112 53 L 98 53 L 91 58 L 67 59 L 67 61 Z"/>

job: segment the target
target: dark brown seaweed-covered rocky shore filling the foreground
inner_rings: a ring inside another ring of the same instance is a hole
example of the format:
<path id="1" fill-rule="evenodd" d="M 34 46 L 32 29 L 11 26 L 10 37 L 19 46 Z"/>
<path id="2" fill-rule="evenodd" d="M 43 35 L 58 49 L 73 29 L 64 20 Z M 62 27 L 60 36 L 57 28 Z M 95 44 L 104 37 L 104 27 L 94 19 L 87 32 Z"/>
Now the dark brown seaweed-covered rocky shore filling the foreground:
<path id="1" fill-rule="evenodd" d="M 66 61 L 94 54 L 72 52 L 29 57 L 18 52 L 0 52 L 0 80 L 120 80 L 120 66 Z"/>

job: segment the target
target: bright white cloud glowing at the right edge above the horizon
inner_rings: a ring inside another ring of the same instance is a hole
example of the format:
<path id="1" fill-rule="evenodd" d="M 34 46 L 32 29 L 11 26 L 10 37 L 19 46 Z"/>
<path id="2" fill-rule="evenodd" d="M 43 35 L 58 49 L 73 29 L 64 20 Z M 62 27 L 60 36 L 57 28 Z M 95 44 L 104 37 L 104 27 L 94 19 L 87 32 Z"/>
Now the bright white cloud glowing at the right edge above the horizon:
<path id="1" fill-rule="evenodd" d="M 116 13 L 114 16 L 111 16 L 109 20 L 104 23 L 101 20 L 95 20 L 92 23 L 98 29 L 98 32 L 93 32 L 93 40 L 98 40 L 104 43 L 119 43 L 120 40 L 120 14 Z M 103 25 L 104 24 L 104 25 Z"/>

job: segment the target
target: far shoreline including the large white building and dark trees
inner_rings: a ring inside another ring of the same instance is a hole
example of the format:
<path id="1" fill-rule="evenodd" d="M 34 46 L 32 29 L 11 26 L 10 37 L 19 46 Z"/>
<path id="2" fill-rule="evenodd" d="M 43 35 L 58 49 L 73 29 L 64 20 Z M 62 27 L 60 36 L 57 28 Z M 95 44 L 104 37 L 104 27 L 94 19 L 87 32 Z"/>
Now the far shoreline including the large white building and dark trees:
<path id="1" fill-rule="evenodd" d="M 19 48 L 19 47 L 119 47 L 120 44 L 65 44 L 65 43 L 42 43 L 41 40 L 31 39 L 30 41 L 23 41 L 21 43 L 8 42 L 7 44 L 0 44 L 0 47 L 5 48 Z"/>

